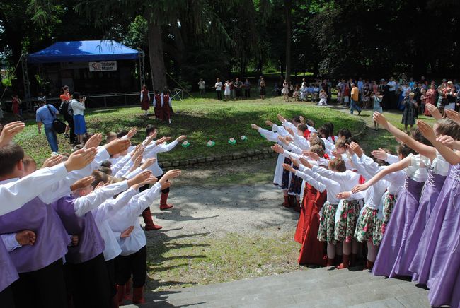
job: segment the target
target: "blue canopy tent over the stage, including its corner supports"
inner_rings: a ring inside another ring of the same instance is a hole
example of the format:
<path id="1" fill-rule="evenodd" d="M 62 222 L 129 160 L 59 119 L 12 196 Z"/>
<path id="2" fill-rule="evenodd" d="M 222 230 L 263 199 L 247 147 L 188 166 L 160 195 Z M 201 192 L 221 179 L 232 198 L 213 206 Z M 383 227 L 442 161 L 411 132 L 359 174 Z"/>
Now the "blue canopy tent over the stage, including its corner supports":
<path id="1" fill-rule="evenodd" d="M 24 97 L 26 100 L 27 97 L 30 97 L 30 83 L 28 78 L 27 66 L 28 63 L 38 65 L 38 71 L 40 76 L 44 64 L 46 64 L 47 67 L 59 67 L 57 71 L 59 71 L 59 73 L 62 72 L 63 74 L 66 73 L 66 71 L 68 73 L 71 70 L 80 69 L 80 73 L 77 74 L 81 76 L 83 73 L 87 74 L 87 72 L 90 71 L 89 62 L 122 61 L 122 63 L 129 63 L 126 61 L 123 62 L 124 60 L 139 61 L 139 81 L 141 85 L 144 84 L 144 52 L 142 51 L 132 49 L 130 47 L 122 45 L 120 42 L 115 42 L 113 40 L 55 42 L 50 47 L 42 49 L 33 54 L 29 54 L 28 56 L 23 56 L 22 69 L 24 76 Z M 128 64 L 125 64 L 125 66 L 126 65 Z M 113 69 L 113 71 L 120 69 L 122 69 L 122 71 L 119 71 L 117 73 L 124 73 L 124 77 L 127 76 L 127 70 L 132 72 L 132 67 L 131 69 L 126 67 L 120 68 L 117 67 L 117 64 L 115 64 L 115 69 Z M 127 78 L 122 79 L 125 80 Z M 130 79 L 132 80 L 132 78 Z M 64 81 L 64 76 L 62 76 L 61 80 L 62 83 L 66 83 Z M 28 102 L 30 102 L 30 98 Z"/>

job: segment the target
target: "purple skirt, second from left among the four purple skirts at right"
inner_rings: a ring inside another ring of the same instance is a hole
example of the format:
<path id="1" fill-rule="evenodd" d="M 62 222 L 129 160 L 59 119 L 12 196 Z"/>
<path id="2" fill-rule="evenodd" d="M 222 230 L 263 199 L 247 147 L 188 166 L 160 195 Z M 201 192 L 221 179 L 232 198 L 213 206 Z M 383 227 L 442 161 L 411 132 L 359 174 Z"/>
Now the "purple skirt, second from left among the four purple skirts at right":
<path id="1" fill-rule="evenodd" d="M 418 206 L 417 213 L 415 213 L 415 218 L 413 219 L 412 225 L 410 225 L 406 245 L 401 247 L 398 257 L 396 258 L 394 266 L 394 273 L 396 273 L 396 275 L 412 276 L 413 273 L 409 271 L 410 262 L 412 262 L 415 251 L 417 251 L 418 248 L 425 249 L 425 247 L 419 247 L 418 244 L 445 179 L 446 177 L 442 175 L 435 174 L 431 170 L 428 171 L 427 182 L 425 182 L 422 196 L 420 197 L 420 205 Z"/>

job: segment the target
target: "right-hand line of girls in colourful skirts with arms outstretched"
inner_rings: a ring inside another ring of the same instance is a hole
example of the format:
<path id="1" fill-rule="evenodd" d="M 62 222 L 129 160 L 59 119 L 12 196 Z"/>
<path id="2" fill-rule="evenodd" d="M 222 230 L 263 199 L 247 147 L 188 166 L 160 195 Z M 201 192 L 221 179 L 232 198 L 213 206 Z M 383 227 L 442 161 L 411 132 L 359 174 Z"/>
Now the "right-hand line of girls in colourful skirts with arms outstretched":
<path id="1" fill-rule="evenodd" d="M 283 206 L 300 208 L 299 264 L 342 269 L 364 254 L 374 275 L 410 277 L 430 289 L 433 307 L 459 307 L 460 116 L 427 108 L 437 122 L 418 120 L 410 135 L 374 112 L 398 141 L 397 155 L 367 155 L 347 129 L 335 136 L 332 123 L 314 129 L 300 116 L 251 125 L 275 142 Z"/>

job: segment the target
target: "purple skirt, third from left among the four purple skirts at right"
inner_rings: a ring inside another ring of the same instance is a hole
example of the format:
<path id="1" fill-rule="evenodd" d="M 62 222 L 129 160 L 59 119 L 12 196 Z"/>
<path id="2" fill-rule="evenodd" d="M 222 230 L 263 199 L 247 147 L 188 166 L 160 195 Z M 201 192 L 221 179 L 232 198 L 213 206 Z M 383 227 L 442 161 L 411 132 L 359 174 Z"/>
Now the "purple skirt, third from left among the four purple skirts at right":
<path id="1" fill-rule="evenodd" d="M 458 165 L 457 165 L 458 166 Z M 457 167 L 458 168 L 458 167 Z M 449 174 L 454 172 L 454 167 L 451 167 Z M 457 170 L 458 172 L 458 170 Z M 425 230 L 422 232 L 420 242 L 418 243 L 418 249 L 415 251 L 412 263 L 410 263 L 409 271 L 413 273 L 412 279 L 420 284 L 426 284 L 430 277 L 430 268 L 432 264 L 433 256 L 435 255 L 435 249 L 437 240 L 439 238 L 439 232 L 444 222 L 446 215 L 448 202 L 444 201 L 445 196 L 449 196 L 452 189 L 451 177 L 447 177 L 442 186 L 442 190 L 439 192 L 439 196 L 435 206 L 432 207 L 430 218 L 427 220 Z"/>

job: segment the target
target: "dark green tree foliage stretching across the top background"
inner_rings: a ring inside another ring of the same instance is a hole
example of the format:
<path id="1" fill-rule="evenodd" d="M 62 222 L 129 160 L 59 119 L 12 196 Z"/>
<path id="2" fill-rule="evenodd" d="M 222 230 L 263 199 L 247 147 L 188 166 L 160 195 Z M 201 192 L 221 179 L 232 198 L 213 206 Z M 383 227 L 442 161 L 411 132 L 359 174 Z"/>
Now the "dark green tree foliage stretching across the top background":
<path id="1" fill-rule="evenodd" d="M 4 0 L 0 56 L 11 67 L 56 41 L 110 38 L 149 55 L 156 88 L 289 67 L 454 76 L 459 18 L 456 0 Z"/>

